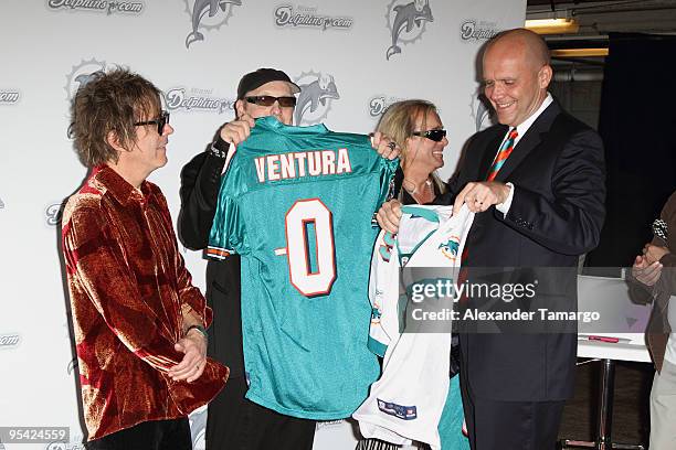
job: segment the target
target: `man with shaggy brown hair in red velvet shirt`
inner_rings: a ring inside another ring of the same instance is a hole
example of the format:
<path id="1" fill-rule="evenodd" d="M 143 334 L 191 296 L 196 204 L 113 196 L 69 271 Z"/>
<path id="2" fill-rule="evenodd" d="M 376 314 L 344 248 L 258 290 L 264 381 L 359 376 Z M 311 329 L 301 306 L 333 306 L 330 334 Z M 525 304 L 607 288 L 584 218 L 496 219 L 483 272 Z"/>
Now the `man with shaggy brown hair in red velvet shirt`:
<path id="1" fill-rule="evenodd" d="M 211 310 L 165 196 L 146 181 L 167 163 L 169 115 L 159 90 L 125 69 L 94 74 L 72 113 L 75 149 L 92 169 L 62 229 L 87 448 L 190 450 L 188 415 L 229 371 L 205 356 Z"/>

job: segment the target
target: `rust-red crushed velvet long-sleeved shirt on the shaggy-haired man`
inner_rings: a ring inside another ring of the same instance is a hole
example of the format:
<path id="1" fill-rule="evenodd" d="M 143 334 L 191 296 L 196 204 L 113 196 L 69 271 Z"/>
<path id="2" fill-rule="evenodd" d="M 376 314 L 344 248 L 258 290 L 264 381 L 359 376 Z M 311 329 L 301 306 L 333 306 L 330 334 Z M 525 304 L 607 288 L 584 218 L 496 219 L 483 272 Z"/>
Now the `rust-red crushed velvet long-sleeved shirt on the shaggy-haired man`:
<path id="1" fill-rule="evenodd" d="M 183 354 L 183 312 L 211 322 L 191 283 L 155 184 L 135 190 L 108 167 L 93 171 L 63 215 L 63 253 L 88 438 L 186 417 L 210 401 L 228 368 L 209 360 L 193 383 L 167 371 Z"/>

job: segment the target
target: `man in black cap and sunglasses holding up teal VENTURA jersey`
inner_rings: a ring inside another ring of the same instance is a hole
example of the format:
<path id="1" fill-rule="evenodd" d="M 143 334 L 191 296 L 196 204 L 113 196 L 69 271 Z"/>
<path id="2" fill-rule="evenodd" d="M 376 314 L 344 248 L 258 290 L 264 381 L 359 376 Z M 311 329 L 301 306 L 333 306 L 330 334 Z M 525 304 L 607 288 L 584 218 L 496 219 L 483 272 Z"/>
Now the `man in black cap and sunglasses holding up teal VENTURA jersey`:
<path id="1" fill-rule="evenodd" d="M 230 146 L 244 141 L 258 117 L 292 125 L 299 92 L 282 71 L 260 68 L 242 77 L 235 120 L 221 127 L 209 149 L 181 171 L 179 236 L 188 248 L 207 247 Z M 240 288 L 239 255 L 208 262 L 207 302 L 213 309 L 208 353 L 231 372 L 226 388 L 209 405 L 207 449 L 311 449 L 314 420 L 283 416 L 244 398 Z"/>

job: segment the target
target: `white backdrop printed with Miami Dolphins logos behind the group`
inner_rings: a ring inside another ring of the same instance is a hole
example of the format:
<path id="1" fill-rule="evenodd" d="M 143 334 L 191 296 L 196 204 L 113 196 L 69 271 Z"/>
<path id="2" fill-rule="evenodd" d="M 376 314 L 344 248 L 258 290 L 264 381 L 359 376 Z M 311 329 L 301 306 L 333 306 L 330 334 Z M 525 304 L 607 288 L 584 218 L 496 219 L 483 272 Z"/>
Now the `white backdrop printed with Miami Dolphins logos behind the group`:
<path id="1" fill-rule="evenodd" d="M 166 93 L 176 132 L 169 163 L 151 180 L 176 217 L 181 167 L 232 119 L 240 77 L 262 66 L 306 86 L 297 125 L 369 132 L 392 101 L 434 101 L 450 132 L 448 175 L 487 121 L 476 100 L 477 50 L 521 25 L 526 11 L 526 0 L 281 1 L 0 1 L 0 426 L 71 429 L 65 444 L 0 450 L 82 448 L 57 240 L 60 206 L 86 175 L 66 129 L 87 74 L 129 66 Z M 201 255 L 184 256 L 203 286 Z M 193 417 L 197 448 L 204 418 Z M 324 425 L 315 447 L 349 448 L 348 428 Z"/>

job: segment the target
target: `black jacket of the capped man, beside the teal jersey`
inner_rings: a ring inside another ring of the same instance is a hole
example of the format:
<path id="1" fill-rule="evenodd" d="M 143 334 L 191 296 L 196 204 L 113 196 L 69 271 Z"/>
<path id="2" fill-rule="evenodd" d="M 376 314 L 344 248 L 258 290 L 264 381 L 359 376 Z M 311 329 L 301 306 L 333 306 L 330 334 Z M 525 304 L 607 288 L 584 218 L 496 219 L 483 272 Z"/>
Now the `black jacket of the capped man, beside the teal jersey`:
<path id="1" fill-rule="evenodd" d="M 223 142 L 224 144 L 224 142 Z M 199 153 L 181 171 L 179 238 L 193 250 L 207 248 L 225 160 Z M 213 311 L 208 354 L 230 367 L 230 377 L 244 376 L 242 351 L 240 256 L 207 264 L 207 304 Z"/>

